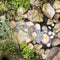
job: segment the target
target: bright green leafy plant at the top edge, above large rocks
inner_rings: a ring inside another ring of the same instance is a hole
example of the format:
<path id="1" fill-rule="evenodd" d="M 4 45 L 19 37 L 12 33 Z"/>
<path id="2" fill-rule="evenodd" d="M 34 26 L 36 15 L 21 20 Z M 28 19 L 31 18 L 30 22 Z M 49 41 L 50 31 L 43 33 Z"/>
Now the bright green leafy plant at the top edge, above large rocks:
<path id="1" fill-rule="evenodd" d="M 29 0 L 11 0 L 12 6 L 17 10 L 19 7 L 24 7 L 25 10 L 30 8 Z"/>

